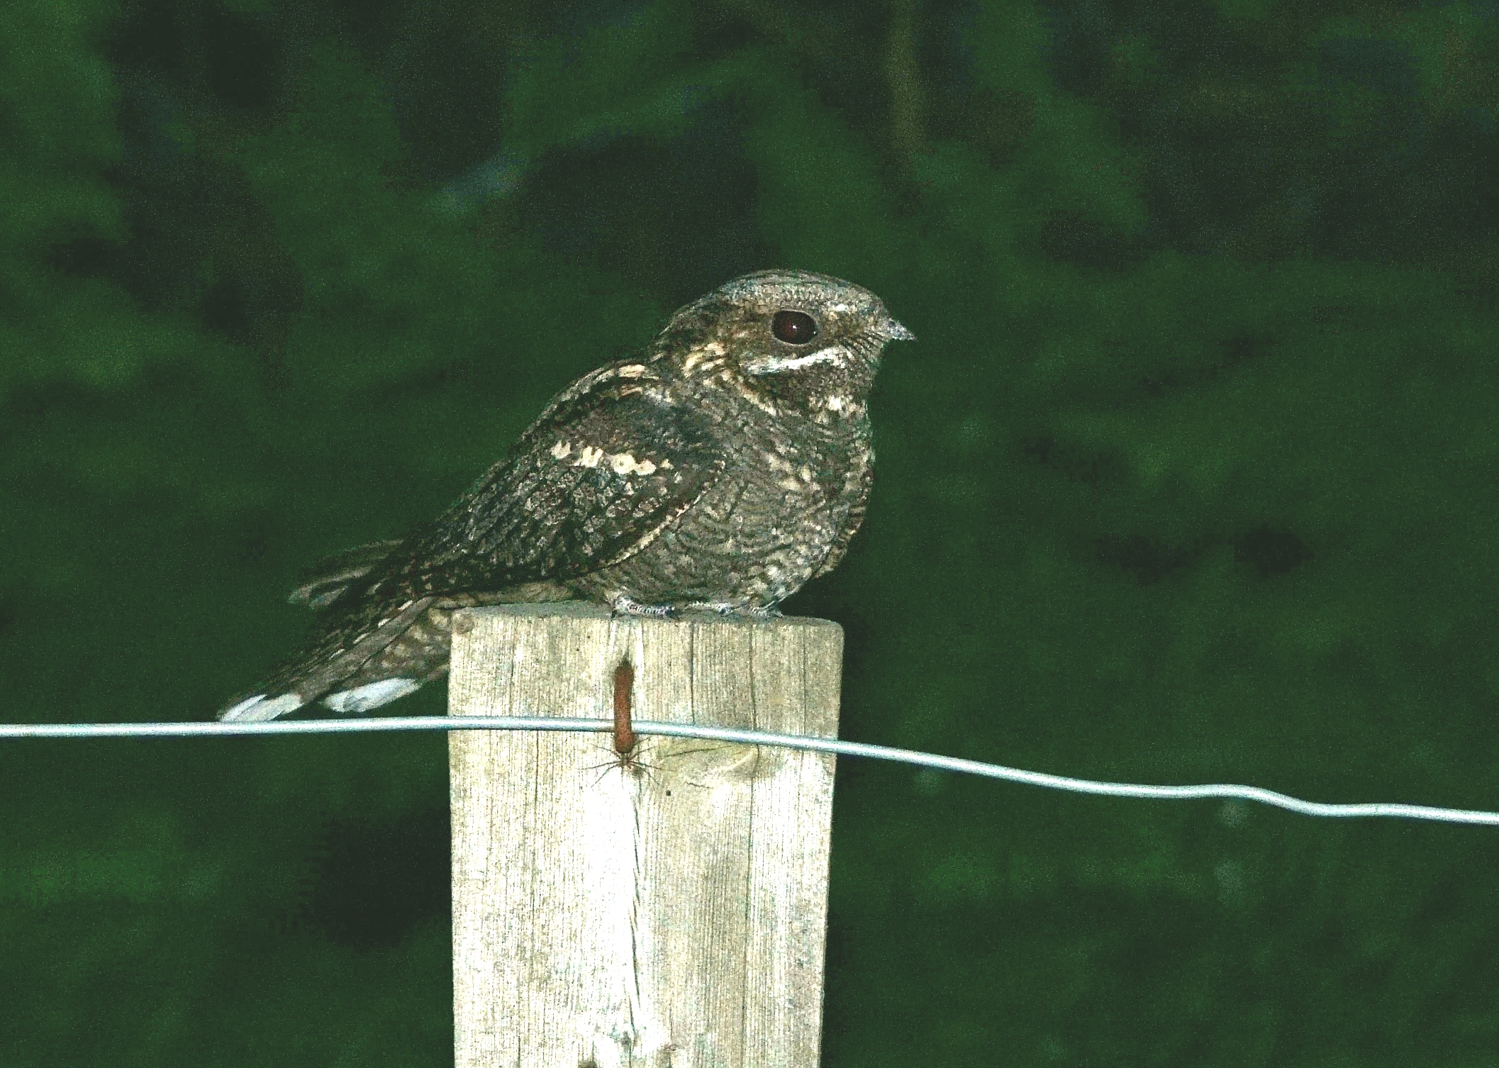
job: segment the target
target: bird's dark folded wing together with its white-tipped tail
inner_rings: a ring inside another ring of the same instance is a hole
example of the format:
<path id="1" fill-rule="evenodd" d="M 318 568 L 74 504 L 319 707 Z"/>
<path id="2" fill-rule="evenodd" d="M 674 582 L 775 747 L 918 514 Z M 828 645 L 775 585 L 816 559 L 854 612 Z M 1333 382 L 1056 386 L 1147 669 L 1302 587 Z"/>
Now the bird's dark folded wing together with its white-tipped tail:
<path id="1" fill-rule="evenodd" d="M 627 560 L 723 468 L 706 422 L 673 405 L 643 364 L 595 370 L 435 524 L 325 561 L 298 590 L 313 604 L 336 602 L 321 638 L 220 716 L 274 718 L 337 690 L 445 594 L 564 580 Z"/>

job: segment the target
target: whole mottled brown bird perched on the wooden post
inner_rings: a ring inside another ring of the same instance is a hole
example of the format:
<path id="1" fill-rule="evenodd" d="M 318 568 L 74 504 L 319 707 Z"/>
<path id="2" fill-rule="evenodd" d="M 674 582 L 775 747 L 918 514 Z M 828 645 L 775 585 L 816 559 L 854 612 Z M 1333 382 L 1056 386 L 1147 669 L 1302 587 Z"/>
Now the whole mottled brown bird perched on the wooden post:
<path id="1" fill-rule="evenodd" d="M 869 291 L 760 272 L 682 308 L 646 352 L 562 390 L 438 520 L 324 561 L 291 598 L 322 634 L 220 720 L 366 712 L 448 670 L 453 610 L 592 600 L 773 616 L 842 558 L 869 496 Z"/>

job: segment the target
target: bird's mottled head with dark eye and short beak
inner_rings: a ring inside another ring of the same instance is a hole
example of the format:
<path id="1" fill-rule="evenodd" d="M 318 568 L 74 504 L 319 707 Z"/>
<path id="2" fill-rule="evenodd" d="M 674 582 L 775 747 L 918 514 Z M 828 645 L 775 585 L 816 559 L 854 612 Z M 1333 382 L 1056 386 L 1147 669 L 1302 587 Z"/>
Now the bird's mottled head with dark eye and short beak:
<path id="1" fill-rule="evenodd" d="M 868 290 L 827 274 L 745 274 L 682 308 L 652 346 L 684 376 L 836 418 L 863 400 L 889 340 L 914 340 Z"/>

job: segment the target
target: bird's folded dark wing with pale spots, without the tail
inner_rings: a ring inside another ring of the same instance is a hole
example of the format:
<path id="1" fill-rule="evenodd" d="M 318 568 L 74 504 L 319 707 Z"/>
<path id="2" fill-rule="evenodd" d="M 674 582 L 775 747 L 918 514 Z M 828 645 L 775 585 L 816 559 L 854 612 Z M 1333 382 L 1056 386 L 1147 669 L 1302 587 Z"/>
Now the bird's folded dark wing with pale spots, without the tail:
<path id="1" fill-rule="evenodd" d="M 601 368 L 558 394 L 367 591 L 408 598 L 595 572 L 649 544 L 723 470 L 706 420 L 673 404 L 648 364 Z"/>

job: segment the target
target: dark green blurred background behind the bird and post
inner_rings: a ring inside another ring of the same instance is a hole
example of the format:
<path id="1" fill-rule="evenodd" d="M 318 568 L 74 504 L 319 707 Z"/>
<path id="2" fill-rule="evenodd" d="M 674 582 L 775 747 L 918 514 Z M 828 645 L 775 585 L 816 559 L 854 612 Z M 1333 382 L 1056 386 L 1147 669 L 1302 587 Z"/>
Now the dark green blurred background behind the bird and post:
<path id="1" fill-rule="evenodd" d="M 0 720 L 210 716 L 785 266 L 920 336 L 844 736 L 1499 807 L 1496 105 L 1495 0 L 10 0 Z M 0 1066 L 447 1064 L 445 777 L 0 744 Z M 844 760 L 824 1064 L 1499 1065 L 1496 858 Z"/>

